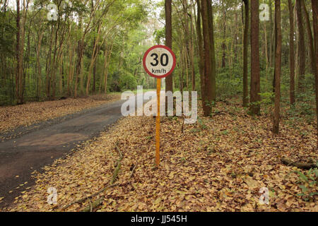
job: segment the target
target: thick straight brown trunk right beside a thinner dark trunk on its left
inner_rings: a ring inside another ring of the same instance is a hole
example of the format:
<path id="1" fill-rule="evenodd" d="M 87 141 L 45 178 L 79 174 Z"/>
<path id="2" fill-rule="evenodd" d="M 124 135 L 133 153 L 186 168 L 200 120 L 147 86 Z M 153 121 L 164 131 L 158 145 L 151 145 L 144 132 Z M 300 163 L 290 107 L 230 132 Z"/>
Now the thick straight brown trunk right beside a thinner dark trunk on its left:
<path id="1" fill-rule="evenodd" d="M 260 114 L 259 0 L 251 2 L 251 114 Z"/>

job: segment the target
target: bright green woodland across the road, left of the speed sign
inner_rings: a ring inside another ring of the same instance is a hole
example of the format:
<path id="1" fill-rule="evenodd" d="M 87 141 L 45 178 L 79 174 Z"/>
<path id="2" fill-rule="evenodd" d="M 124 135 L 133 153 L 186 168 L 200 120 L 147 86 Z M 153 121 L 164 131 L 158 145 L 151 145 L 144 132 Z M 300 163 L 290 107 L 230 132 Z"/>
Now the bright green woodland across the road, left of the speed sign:
<path id="1" fill-rule="evenodd" d="M 1 105 L 150 86 L 145 2 L 1 1 Z"/>

